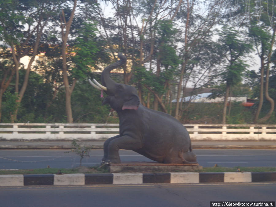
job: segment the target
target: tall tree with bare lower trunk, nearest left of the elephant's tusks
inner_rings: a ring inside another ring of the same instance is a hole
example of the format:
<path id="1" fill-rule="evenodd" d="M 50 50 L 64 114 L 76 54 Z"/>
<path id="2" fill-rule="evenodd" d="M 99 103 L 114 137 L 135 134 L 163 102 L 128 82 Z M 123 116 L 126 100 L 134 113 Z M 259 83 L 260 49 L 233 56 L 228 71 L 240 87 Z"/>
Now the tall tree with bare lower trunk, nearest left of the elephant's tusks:
<path id="1" fill-rule="evenodd" d="M 71 96 L 79 79 L 86 77 L 86 72 L 95 66 L 96 56 L 105 59 L 105 54 L 98 49 L 97 30 L 94 21 L 94 1 L 77 1 L 63 4 L 59 21 L 55 23 L 61 29 L 61 56 L 63 84 L 65 86 L 65 108 L 67 122 L 73 122 Z M 75 38 L 77 36 L 77 38 Z M 103 45 L 101 45 L 104 48 Z M 101 49 L 102 49 L 101 48 Z"/>

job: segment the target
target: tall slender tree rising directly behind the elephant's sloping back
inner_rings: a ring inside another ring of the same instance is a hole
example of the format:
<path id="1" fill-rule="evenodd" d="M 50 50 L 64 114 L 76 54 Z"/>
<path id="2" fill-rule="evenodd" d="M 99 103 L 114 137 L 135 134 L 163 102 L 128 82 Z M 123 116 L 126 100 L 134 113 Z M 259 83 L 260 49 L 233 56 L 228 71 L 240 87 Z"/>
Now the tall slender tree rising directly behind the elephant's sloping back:
<path id="1" fill-rule="evenodd" d="M 198 2 L 197 0 L 186 0 L 185 4 L 180 8 L 178 12 L 177 20 L 181 21 L 182 28 L 185 28 L 182 29 L 182 34 L 179 37 L 178 42 L 178 44 L 181 45 L 181 47 L 179 48 L 179 57 L 182 60 L 182 63 L 180 65 L 178 75 L 175 117 L 179 120 L 183 112 L 182 94 L 184 93 L 182 93 L 182 91 L 185 90 L 185 86 L 187 85 L 187 83 L 194 82 L 193 86 L 194 89 L 196 89 L 205 85 L 199 84 L 205 79 L 205 81 L 203 82 L 207 83 L 206 85 L 208 85 L 208 82 L 210 82 L 211 80 L 209 79 L 210 75 L 208 75 L 208 73 L 211 74 L 212 70 L 216 68 L 219 64 L 217 59 L 218 56 L 215 53 L 214 56 L 211 56 L 212 58 L 214 58 L 212 60 L 213 63 L 208 64 L 208 67 L 205 67 L 204 64 L 201 65 L 199 60 L 201 59 L 202 63 L 204 61 L 208 62 L 208 60 L 210 59 L 205 59 L 203 51 L 208 51 L 206 53 L 209 53 L 209 49 L 212 49 L 212 44 L 204 43 L 210 42 L 210 36 L 213 34 L 215 26 L 218 25 L 221 21 L 221 12 L 223 12 L 224 8 L 223 3 L 223 0 L 211 0 L 204 2 L 203 4 L 202 2 Z M 213 42 L 213 44 L 216 45 L 215 42 Z M 205 48 L 202 48 L 202 46 L 204 45 Z M 198 53 L 199 47 L 201 47 L 200 53 Z M 197 56 L 197 54 L 200 54 L 201 56 Z M 201 67 L 203 68 L 203 71 L 200 70 Z M 196 73 L 197 75 L 195 76 L 198 79 L 195 78 L 194 80 L 190 80 L 190 78 L 192 78 L 190 74 Z"/>

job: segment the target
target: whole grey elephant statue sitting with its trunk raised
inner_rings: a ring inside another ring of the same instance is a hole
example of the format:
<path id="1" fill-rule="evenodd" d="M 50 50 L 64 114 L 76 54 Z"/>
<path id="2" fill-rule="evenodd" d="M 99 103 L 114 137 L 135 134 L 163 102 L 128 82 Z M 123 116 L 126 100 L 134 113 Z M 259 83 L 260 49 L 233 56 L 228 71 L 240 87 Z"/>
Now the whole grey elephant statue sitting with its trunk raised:
<path id="1" fill-rule="evenodd" d="M 113 81 L 109 73 L 126 63 L 126 57 L 118 54 L 118 60 L 107 66 L 101 74 L 101 82 L 89 82 L 108 96 L 102 104 L 110 104 L 120 120 L 120 134 L 104 143 L 102 163 L 121 163 L 119 149 L 133 150 L 159 163 L 197 163 L 192 152 L 191 140 L 186 128 L 174 117 L 140 104 L 133 86 Z"/>

